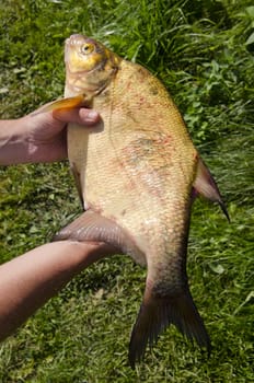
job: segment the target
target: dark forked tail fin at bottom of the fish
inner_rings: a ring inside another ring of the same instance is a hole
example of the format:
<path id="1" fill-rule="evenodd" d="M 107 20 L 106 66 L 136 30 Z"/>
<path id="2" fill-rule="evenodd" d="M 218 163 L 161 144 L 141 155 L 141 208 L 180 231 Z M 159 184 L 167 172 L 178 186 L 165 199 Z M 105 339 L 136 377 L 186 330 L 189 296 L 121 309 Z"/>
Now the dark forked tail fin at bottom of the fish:
<path id="1" fill-rule="evenodd" d="M 189 291 L 177 297 L 163 298 L 150 294 L 146 299 L 145 294 L 129 344 L 129 363 L 132 369 L 135 362 L 143 358 L 147 344 L 152 346 L 159 334 L 171 323 L 210 353 L 210 339 Z"/>

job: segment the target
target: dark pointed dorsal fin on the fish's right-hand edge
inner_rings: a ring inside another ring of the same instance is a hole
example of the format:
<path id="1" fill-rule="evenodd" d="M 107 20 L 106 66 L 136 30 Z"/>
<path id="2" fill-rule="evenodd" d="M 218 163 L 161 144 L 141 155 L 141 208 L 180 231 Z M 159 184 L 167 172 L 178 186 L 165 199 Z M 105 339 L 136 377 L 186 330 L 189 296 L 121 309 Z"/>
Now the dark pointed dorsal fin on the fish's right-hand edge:
<path id="1" fill-rule="evenodd" d="M 203 160 L 198 159 L 197 164 L 197 174 L 194 182 L 194 195 L 200 194 L 201 196 L 208 198 L 212 202 L 218 202 L 230 221 L 229 213 L 227 211 L 226 205 L 222 201 L 219 188 L 209 171 L 209 169 L 205 165 Z"/>

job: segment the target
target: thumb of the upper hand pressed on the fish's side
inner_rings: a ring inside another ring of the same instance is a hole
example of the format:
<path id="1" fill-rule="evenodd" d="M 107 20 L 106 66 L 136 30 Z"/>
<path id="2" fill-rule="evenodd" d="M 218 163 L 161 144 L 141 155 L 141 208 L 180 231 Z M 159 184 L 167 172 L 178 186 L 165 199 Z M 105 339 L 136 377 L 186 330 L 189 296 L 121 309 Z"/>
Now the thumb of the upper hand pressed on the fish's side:
<path id="1" fill-rule="evenodd" d="M 96 111 L 84 107 L 53 111 L 53 117 L 62 123 L 74 123 L 89 126 L 94 125 L 100 120 L 100 115 Z"/>

